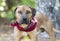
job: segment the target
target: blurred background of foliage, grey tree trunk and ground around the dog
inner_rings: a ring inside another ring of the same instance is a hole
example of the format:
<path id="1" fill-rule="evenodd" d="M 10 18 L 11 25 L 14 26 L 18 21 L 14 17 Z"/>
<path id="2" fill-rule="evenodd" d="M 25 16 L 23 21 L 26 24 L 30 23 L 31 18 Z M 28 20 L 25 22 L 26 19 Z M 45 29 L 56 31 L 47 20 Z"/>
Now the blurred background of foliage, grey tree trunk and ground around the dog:
<path id="1" fill-rule="evenodd" d="M 13 27 L 9 24 L 14 20 L 14 9 L 18 5 L 36 8 L 36 14 L 47 15 L 54 27 L 60 30 L 60 0 L 0 0 L 0 41 L 14 41 Z M 59 40 L 60 34 L 55 32 L 55 38 Z"/>

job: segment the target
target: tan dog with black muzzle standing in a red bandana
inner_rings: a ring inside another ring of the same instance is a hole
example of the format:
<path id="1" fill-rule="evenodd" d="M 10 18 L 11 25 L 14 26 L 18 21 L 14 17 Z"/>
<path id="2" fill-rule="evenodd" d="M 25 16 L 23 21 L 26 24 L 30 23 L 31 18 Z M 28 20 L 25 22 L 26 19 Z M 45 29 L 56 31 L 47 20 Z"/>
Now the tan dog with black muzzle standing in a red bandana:
<path id="1" fill-rule="evenodd" d="M 36 15 L 36 9 L 26 6 L 26 5 L 21 5 L 21 6 L 16 7 L 14 10 L 14 13 L 15 13 L 16 21 L 19 24 L 28 25 L 32 17 L 34 17 L 37 20 L 36 28 L 29 32 L 20 31 L 15 26 L 14 27 L 14 40 L 15 41 L 21 41 L 22 37 L 24 36 L 23 34 L 25 33 L 27 33 L 27 35 L 29 36 L 30 41 L 37 41 L 38 30 L 41 30 L 42 32 L 46 31 L 51 41 L 54 41 L 54 33 L 53 33 L 54 26 L 46 15 L 43 15 L 43 14 Z M 26 26 L 23 26 L 23 27 L 26 28 Z"/>

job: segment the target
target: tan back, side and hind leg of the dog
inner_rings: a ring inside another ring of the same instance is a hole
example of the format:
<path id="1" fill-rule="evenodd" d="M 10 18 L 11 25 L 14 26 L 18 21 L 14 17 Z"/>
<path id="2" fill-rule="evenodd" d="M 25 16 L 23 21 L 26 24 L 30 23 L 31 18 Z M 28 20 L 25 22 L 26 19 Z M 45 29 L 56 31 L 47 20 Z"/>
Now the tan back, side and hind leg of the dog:
<path id="1" fill-rule="evenodd" d="M 38 20 L 38 27 L 44 28 L 50 37 L 50 41 L 54 41 L 53 25 L 46 15 L 37 14 L 35 18 Z"/>

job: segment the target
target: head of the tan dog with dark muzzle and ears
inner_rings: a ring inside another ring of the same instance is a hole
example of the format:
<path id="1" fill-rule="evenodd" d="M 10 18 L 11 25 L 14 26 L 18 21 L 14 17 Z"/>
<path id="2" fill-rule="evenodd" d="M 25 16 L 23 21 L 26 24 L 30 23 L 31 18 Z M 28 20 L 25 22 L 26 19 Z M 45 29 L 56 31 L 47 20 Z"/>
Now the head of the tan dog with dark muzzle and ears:
<path id="1" fill-rule="evenodd" d="M 29 6 L 22 5 L 16 7 L 14 13 L 16 20 L 20 24 L 29 24 L 30 19 L 35 16 L 36 10 Z"/>

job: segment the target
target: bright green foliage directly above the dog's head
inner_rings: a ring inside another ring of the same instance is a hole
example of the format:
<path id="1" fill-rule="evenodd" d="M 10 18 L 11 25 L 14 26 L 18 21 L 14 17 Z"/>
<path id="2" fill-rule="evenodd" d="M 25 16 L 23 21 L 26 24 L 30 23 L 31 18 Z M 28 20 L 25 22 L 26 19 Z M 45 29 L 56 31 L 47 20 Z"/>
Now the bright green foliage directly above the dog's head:
<path id="1" fill-rule="evenodd" d="M 18 5 L 28 5 L 30 7 L 36 7 L 36 0 L 19 0 Z"/>

